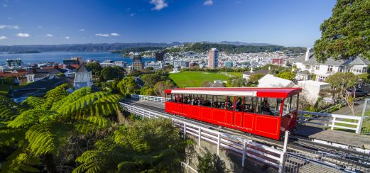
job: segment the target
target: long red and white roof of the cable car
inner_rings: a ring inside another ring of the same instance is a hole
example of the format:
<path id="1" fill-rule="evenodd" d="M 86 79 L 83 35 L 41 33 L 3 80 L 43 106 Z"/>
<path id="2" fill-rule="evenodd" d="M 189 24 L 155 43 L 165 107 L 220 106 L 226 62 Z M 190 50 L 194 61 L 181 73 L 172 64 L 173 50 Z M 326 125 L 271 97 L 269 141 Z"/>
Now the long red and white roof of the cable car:
<path id="1" fill-rule="evenodd" d="M 184 89 L 167 89 L 168 94 L 204 94 L 217 96 L 259 96 L 285 98 L 298 94 L 301 88 L 184 88 Z"/>

